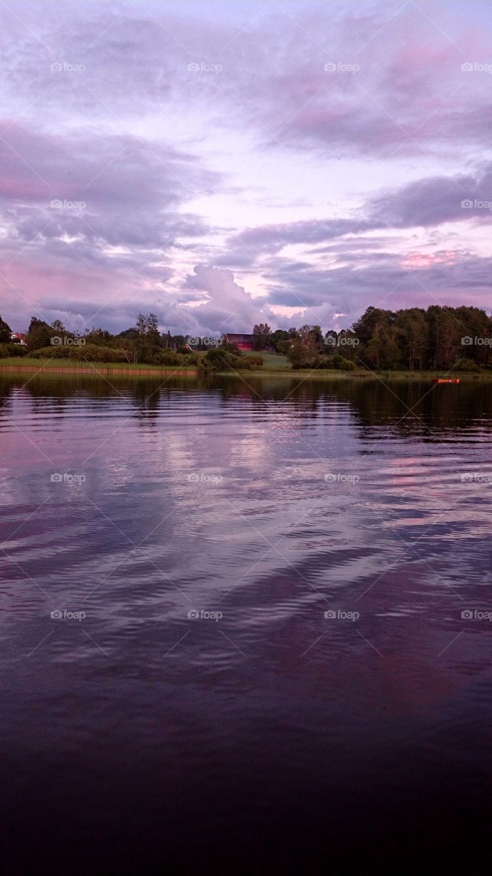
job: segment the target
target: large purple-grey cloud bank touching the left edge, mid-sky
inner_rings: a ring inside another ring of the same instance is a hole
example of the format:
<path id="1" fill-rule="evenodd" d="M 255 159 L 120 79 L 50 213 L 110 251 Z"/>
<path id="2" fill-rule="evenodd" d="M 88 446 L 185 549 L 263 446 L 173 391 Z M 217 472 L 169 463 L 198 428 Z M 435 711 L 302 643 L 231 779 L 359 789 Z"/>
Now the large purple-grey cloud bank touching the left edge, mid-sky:
<path id="1" fill-rule="evenodd" d="M 179 207 L 221 180 L 196 156 L 131 135 L 55 135 L 19 123 L 2 136 L 0 155 L 4 217 L 23 239 L 161 247 L 200 236 L 203 223 Z"/>

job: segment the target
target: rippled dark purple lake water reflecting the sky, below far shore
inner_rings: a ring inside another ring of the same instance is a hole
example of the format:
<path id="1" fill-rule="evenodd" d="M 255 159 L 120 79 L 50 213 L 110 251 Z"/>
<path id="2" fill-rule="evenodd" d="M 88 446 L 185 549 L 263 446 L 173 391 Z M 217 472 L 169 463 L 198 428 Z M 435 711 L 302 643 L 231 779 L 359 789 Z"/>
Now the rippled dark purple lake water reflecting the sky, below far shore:
<path id="1" fill-rule="evenodd" d="M 488 872 L 492 385 L 24 384 L 6 872 Z"/>

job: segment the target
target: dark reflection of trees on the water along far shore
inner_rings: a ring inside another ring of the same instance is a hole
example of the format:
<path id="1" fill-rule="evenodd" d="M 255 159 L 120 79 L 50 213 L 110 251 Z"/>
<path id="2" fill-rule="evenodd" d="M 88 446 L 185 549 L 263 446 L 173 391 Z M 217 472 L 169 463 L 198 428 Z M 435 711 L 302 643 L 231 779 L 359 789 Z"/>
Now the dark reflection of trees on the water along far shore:
<path id="1" fill-rule="evenodd" d="M 251 415 L 257 417 L 265 403 L 285 402 L 292 406 L 292 413 L 313 417 L 320 406 L 329 403 L 348 404 L 355 420 L 362 427 L 384 425 L 395 427 L 402 434 L 429 435 L 448 428 L 469 426 L 492 413 L 492 383 L 481 379 L 462 381 L 460 385 L 432 385 L 430 379 L 393 380 L 386 378 L 335 378 L 320 380 L 309 378 L 283 378 L 273 375 L 250 376 L 244 380 L 235 376 L 227 378 L 190 379 L 166 378 L 121 378 L 111 381 L 99 378 L 84 378 L 81 375 L 57 378 L 56 375 L 39 376 L 26 383 L 25 375 L 9 375 L 0 378 L 0 409 L 8 405 L 11 393 L 22 389 L 35 403 L 37 409 L 51 402 L 60 409 L 70 399 L 95 398 L 118 399 L 134 406 L 143 421 L 154 420 L 164 400 L 172 392 L 190 390 L 219 401 L 224 412 L 238 402 L 251 407 Z M 411 413 L 409 413 L 409 408 Z M 269 415 L 274 413 L 270 406 Z M 284 410 L 285 413 L 285 410 Z M 101 416 L 104 416 L 102 408 Z"/>

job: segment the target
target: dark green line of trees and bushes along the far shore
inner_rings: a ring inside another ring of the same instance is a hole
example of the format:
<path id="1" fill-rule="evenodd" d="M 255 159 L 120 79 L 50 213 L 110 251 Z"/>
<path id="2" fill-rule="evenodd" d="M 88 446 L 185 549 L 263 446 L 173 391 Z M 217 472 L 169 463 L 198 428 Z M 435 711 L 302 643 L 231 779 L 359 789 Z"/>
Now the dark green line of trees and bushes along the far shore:
<path id="1" fill-rule="evenodd" d="M 214 342 L 214 343 L 212 343 Z M 227 336 L 186 338 L 161 332 L 156 314 L 138 314 L 136 325 L 117 335 L 107 329 L 86 329 L 77 335 L 60 320 L 33 316 L 26 346 L 11 341 L 11 328 L 0 317 L 0 357 L 29 354 L 93 362 L 198 365 L 203 371 L 259 368 L 261 357 L 244 355 Z M 319 325 L 277 329 L 258 323 L 253 350 L 272 350 L 294 368 L 335 368 L 351 371 L 439 371 L 459 368 L 480 371 L 491 365 L 492 319 L 479 307 L 408 307 L 392 311 L 368 307 L 350 328 L 323 333 Z"/>

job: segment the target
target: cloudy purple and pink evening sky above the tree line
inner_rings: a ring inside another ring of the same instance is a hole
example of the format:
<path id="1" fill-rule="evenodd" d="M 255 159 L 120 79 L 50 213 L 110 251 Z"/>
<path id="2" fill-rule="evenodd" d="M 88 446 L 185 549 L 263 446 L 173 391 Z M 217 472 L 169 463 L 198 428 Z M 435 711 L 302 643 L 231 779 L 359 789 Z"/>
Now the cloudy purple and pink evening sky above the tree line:
<path id="1" fill-rule="evenodd" d="M 492 8 L 0 0 L 0 315 L 492 307 Z"/>

